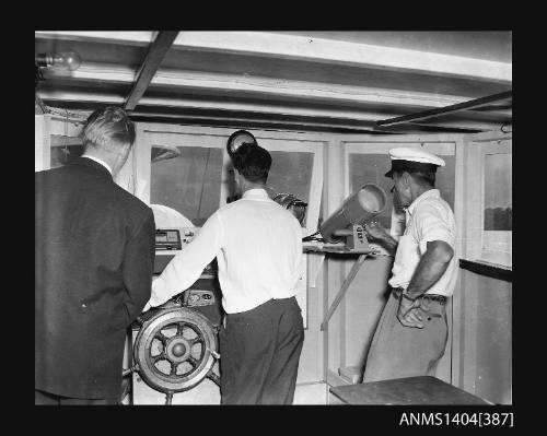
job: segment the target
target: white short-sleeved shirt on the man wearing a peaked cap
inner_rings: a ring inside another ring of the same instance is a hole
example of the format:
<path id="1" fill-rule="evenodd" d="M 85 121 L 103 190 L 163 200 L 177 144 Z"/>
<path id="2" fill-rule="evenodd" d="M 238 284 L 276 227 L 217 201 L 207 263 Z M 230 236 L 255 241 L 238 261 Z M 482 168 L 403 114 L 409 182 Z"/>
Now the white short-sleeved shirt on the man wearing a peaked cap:
<path id="1" fill-rule="evenodd" d="M 446 271 L 427 294 L 452 295 L 457 278 L 456 222 L 439 189 L 423 192 L 406 210 L 406 228 L 397 246 L 389 285 L 407 288 L 428 243 L 432 240 L 444 240 L 454 250 L 454 256 Z"/>

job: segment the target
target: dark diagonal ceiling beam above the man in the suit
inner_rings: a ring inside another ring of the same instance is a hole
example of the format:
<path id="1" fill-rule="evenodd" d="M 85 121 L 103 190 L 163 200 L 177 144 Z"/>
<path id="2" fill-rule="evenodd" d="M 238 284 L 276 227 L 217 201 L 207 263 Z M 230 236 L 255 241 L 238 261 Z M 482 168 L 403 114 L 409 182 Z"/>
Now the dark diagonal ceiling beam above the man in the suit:
<path id="1" fill-rule="evenodd" d="M 133 87 L 124 104 L 124 108 L 127 110 L 135 109 L 135 106 L 139 104 L 140 98 L 147 92 L 150 81 L 153 79 L 155 72 L 160 68 L 163 58 L 167 54 L 168 49 L 173 45 L 178 32 L 160 32 L 151 44 L 148 50 L 144 62 L 142 63 L 138 79 L 133 84 Z"/>

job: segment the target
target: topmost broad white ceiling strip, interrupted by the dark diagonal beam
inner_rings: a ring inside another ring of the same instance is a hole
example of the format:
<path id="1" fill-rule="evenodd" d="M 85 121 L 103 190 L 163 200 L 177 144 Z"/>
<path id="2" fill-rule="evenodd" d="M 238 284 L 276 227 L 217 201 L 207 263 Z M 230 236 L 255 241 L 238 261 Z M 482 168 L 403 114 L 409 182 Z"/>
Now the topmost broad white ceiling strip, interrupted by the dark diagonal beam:
<path id="1" fill-rule="evenodd" d="M 142 45 L 150 32 L 35 32 L 36 37 Z M 326 62 L 510 84 L 512 63 L 268 32 L 181 32 L 173 48 Z"/>

